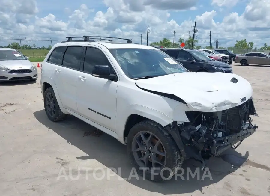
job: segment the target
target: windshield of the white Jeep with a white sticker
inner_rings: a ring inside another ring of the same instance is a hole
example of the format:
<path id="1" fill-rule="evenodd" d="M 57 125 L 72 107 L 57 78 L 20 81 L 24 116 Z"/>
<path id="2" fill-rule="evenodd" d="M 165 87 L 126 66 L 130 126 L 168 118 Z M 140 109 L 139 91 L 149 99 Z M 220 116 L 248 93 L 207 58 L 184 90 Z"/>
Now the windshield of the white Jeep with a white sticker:
<path id="1" fill-rule="evenodd" d="M 139 48 L 109 50 L 124 73 L 131 79 L 188 72 L 161 50 Z"/>

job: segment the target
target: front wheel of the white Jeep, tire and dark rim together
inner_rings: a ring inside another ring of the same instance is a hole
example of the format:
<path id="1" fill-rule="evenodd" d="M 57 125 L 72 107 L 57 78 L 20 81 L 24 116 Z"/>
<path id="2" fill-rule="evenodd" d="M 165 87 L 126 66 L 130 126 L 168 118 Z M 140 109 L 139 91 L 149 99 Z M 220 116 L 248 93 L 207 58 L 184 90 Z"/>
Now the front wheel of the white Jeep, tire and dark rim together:
<path id="1" fill-rule="evenodd" d="M 172 136 L 152 120 L 142 121 L 131 128 L 127 151 L 137 174 L 152 181 L 172 178 L 184 160 Z M 142 168 L 149 169 L 144 171 Z"/>

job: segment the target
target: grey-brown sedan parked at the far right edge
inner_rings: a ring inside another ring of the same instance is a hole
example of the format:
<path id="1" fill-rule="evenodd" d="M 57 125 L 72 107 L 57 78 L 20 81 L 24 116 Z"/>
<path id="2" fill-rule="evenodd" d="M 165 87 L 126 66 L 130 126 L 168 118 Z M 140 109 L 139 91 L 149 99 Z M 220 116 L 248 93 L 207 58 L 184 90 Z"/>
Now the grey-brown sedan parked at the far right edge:
<path id="1" fill-rule="evenodd" d="M 264 52 L 248 52 L 242 55 L 237 55 L 235 63 L 241 65 L 270 65 L 270 55 Z"/>

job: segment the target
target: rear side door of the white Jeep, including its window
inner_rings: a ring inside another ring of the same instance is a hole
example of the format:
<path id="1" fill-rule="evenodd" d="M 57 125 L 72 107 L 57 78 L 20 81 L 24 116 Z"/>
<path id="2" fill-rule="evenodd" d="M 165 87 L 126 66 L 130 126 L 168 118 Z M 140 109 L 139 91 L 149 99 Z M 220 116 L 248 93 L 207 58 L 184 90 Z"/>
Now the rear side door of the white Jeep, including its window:
<path id="1" fill-rule="evenodd" d="M 83 46 L 68 46 L 61 65 L 54 69 L 54 80 L 63 107 L 77 112 L 76 82 Z"/>

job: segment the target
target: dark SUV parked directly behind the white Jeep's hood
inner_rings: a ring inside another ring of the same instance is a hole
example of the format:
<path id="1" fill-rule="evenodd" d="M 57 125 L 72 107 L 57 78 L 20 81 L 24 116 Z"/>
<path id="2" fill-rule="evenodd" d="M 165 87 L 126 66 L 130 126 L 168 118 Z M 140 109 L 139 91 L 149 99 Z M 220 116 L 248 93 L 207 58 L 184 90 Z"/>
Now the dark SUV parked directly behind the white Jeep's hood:
<path id="1" fill-rule="evenodd" d="M 232 66 L 221 61 L 215 61 L 202 52 L 194 49 L 161 49 L 177 62 L 192 72 L 224 72 L 232 73 Z"/>

